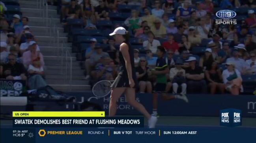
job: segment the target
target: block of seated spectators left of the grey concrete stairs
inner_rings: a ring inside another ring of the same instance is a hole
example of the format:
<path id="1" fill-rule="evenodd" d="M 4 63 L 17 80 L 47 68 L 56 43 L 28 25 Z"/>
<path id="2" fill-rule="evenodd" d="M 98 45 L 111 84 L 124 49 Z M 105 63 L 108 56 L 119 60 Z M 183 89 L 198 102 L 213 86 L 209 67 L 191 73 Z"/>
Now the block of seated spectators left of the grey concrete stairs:
<path id="1" fill-rule="evenodd" d="M 0 78 L 26 80 L 29 89 L 46 86 L 43 54 L 28 26 L 29 19 L 20 13 L 12 13 L 8 19 L 6 11 L 6 5 L 1 2 Z"/>

